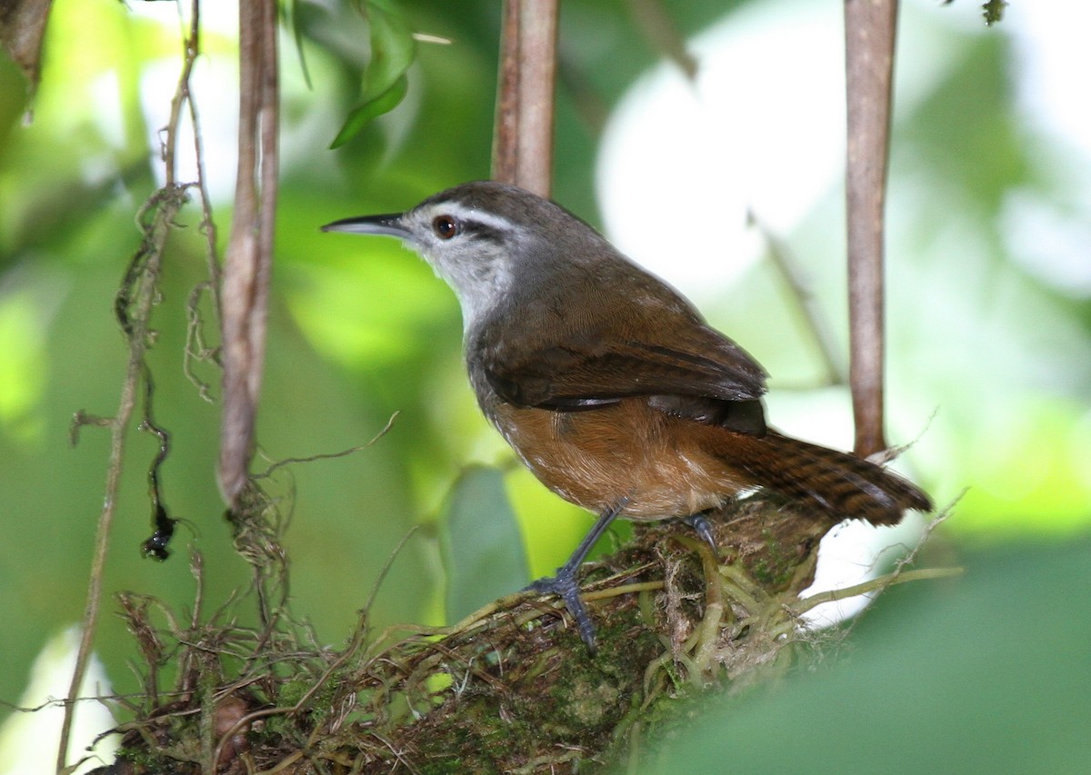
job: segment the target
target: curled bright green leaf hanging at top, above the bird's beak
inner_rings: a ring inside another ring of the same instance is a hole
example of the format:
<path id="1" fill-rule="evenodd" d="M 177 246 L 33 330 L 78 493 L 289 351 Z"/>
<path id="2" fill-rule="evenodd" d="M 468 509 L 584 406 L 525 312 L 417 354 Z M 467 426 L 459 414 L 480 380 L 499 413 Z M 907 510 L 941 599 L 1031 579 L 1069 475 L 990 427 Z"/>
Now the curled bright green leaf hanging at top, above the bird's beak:
<path id="1" fill-rule="evenodd" d="M 340 147 L 369 122 L 394 110 L 408 90 L 406 72 L 417 51 L 412 32 L 389 0 L 369 0 L 364 11 L 371 27 L 371 62 L 363 74 L 363 102 L 349 113 L 331 148 Z"/>

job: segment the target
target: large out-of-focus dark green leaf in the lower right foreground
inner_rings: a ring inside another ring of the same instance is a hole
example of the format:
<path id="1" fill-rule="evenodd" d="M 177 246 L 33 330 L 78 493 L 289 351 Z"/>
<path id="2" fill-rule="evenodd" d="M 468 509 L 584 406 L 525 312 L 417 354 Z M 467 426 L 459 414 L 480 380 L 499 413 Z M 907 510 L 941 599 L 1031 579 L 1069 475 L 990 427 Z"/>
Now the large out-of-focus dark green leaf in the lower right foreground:
<path id="1" fill-rule="evenodd" d="M 827 669 L 709 698 L 639 772 L 1087 772 L 1091 541 L 964 559 L 884 593 Z"/>

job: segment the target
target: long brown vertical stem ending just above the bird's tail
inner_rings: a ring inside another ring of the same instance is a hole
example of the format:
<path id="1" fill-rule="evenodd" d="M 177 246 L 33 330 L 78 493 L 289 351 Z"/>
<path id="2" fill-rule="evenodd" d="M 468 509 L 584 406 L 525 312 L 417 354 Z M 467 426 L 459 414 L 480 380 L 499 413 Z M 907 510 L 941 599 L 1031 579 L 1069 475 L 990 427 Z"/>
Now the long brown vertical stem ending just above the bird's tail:
<path id="1" fill-rule="evenodd" d="M 855 452 L 861 457 L 886 448 L 883 429 L 883 216 L 897 19 L 897 0 L 844 2 L 849 383 L 856 428 Z"/>

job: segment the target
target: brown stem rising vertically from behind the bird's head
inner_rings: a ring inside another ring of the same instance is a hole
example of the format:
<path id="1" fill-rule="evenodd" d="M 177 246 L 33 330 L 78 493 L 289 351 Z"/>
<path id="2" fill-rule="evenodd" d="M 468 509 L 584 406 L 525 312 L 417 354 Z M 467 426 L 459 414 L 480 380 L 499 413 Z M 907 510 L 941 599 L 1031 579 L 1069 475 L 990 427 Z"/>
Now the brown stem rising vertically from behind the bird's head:
<path id="1" fill-rule="evenodd" d="M 549 196 L 558 0 L 505 0 L 492 177 Z"/>

